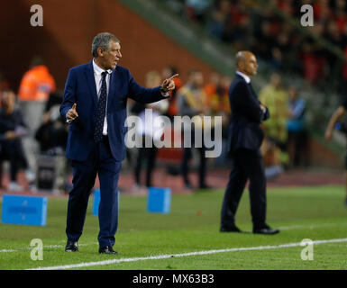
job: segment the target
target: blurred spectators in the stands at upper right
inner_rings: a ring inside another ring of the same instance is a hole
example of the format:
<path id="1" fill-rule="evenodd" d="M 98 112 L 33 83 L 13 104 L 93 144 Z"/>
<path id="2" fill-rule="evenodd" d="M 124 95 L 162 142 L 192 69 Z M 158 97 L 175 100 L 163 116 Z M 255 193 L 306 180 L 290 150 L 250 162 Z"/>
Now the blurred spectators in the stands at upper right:
<path id="1" fill-rule="evenodd" d="M 305 28 L 347 56 L 345 0 L 166 0 L 166 3 L 173 11 L 201 25 L 212 37 L 234 50 L 253 51 L 279 72 L 297 73 L 322 87 L 329 82 L 336 89 L 343 88 L 347 80 L 347 64 L 288 20 L 299 26 L 300 7 L 311 4 L 314 26 Z"/>

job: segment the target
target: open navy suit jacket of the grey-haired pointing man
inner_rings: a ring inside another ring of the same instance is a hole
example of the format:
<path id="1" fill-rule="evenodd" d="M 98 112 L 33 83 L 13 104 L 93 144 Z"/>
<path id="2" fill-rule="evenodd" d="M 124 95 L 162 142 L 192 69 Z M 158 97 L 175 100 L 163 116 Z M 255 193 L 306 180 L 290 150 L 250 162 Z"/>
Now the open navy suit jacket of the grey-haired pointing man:
<path id="1" fill-rule="evenodd" d="M 127 99 L 141 103 L 153 103 L 165 99 L 160 88 L 144 88 L 137 84 L 130 71 L 117 66 L 110 76 L 107 96 L 107 134 L 110 148 L 115 160 L 122 161 L 126 155 L 124 137 L 127 128 L 126 119 Z M 66 119 L 68 110 L 77 103 L 78 117 L 68 128 L 66 156 L 72 160 L 85 161 L 94 148 L 93 134 L 96 124 L 97 111 L 96 80 L 93 60 L 78 67 L 72 67 L 68 72 L 63 102 L 60 114 Z"/>

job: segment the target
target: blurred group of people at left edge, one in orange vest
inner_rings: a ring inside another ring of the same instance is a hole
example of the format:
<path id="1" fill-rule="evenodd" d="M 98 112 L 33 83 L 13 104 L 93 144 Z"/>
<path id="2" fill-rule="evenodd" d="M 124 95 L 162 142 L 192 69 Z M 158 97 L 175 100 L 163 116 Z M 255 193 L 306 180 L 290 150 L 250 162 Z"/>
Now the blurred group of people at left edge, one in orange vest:
<path id="1" fill-rule="evenodd" d="M 2 176 L 7 162 L 7 189 L 23 190 L 18 184 L 18 172 L 23 171 L 32 190 L 39 185 L 43 190 L 65 191 L 68 126 L 59 114 L 62 92 L 57 91 L 54 76 L 39 56 L 32 58 L 19 87 L 8 85 L 5 72 L 0 76 L 0 172 Z"/>

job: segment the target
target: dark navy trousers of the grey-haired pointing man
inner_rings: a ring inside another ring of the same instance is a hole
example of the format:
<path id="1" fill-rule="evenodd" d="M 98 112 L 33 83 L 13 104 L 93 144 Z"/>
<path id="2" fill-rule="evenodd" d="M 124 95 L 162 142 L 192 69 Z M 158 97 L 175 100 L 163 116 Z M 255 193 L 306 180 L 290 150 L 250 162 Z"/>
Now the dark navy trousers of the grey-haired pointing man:
<path id="1" fill-rule="evenodd" d="M 118 179 L 122 162 L 112 156 L 108 138 L 96 144 L 86 161 L 71 161 L 73 188 L 68 195 L 66 233 L 69 241 L 78 241 L 86 219 L 89 194 L 94 187 L 96 174 L 100 181 L 99 235 L 100 247 L 114 246 L 118 228 Z"/>

